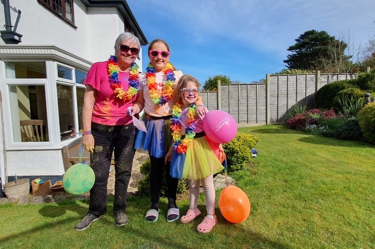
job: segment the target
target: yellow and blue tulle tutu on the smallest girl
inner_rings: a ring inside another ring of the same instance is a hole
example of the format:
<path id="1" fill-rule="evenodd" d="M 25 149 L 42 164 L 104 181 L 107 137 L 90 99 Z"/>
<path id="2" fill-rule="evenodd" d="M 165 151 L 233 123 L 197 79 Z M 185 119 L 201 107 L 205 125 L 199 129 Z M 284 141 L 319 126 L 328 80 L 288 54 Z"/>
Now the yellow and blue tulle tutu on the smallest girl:
<path id="1" fill-rule="evenodd" d="M 192 139 L 186 153 L 174 151 L 170 175 L 174 178 L 198 180 L 223 169 L 211 145 L 203 136 Z"/>

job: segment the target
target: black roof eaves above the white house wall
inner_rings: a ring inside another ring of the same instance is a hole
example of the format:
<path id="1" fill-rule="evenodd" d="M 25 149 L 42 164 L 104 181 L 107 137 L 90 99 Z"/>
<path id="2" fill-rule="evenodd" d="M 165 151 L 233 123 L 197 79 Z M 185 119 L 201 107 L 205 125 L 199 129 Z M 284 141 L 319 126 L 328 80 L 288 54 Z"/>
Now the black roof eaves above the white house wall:
<path id="1" fill-rule="evenodd" d="M 128 3 L 125 0 L 81 0 L 86 7 L 116 7 L 123 15 L 124 20 L 129 23 L 130 27 L 134 30 L 134 34 L 139 38 L 142 46 L 147 45 L 149 42 L 146 39 L 145 34 L 142 32 L 136 18 L 129 8 Z"/>

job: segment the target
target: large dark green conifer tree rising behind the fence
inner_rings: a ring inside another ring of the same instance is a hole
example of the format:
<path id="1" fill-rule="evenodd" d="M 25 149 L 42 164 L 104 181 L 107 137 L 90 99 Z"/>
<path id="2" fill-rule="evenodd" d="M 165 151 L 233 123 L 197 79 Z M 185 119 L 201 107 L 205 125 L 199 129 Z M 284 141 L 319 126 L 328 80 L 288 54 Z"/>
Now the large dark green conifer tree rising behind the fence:
<path id="1" fill-rule="evenodd" d="M 335 64 L 338 58 L 344 61 L 349 59 L 344 54 L 348 45 L 326 31 L 318 32 L 312 29 L 301 34 L 295 41 L 296 43 L 287 49 L 292 54 L 287 55 L 288 59 L 284 60 L 288 69 L 320 70 L 322 60 L 331 65 Z"/>

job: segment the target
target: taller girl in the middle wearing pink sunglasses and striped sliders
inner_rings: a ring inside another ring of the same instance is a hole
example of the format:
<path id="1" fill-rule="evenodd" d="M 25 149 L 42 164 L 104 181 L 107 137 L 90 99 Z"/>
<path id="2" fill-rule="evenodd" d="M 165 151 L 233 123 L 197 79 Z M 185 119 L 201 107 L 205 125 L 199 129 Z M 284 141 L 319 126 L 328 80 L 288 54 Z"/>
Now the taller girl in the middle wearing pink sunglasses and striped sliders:
<path id="1" fill-rule="evenodd" d="M 159 218 L 159 199 L 162 187 L 164 167 L 164 157 L 171 144 L 170 119 L 172 117 L 172 107 L 176 103 L 174 97 L 175 87 L 183 73 L 177 71 L 170 59 L 169 45 L 162 39 L 155 39 L 148 47 L 150 64 L 146 68 L 146 73 L 139 77 L 139 90 L 137 103 L 144 104 L 145 117 L 143 122 L 146 125 L 147 133 L 138 131 L 135 139 L 135 148 L 148 150 L 151 161 L 150 172 L 150 193 L 151 208 L 146 213 L 148 222 L 156 222 Z M 197 113 L 203 116 L 206 108 L 203 107 L 201 99 Z M 142 110 L 137 105 L 130 108 L 131 115 Z M 176 194 L 179 180 L 166 175 L 168 198 L 167 221 L 174 222 L 180 218 L 180 209 L 176 204 Z"/>

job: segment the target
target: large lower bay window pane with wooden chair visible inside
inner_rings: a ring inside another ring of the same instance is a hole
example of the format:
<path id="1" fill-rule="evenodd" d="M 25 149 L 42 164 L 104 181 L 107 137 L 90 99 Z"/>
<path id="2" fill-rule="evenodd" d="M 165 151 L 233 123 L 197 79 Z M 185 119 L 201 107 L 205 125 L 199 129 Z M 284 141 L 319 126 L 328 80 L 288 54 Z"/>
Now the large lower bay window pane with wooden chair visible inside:
<path id="1" fill-rule="evenodd" d="M 9 86 L 14 142 L 48 141 L 44 86 Z"/>

